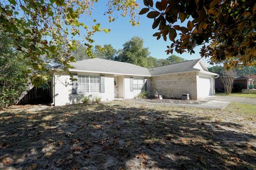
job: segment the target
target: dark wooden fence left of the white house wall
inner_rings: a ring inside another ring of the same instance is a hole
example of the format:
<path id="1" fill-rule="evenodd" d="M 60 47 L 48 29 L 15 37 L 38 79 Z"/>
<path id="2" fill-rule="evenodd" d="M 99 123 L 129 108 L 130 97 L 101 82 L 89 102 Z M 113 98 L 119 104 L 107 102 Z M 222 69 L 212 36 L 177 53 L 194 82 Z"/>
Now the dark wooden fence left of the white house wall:
<path id="1" fill-rule="evenodd" d="M 51 87 L 51 83 L 49 83 Z M 44 89 L 33 87 L 20 101 L 19 105 L 36 105 L 51 103 L 51 88 Z"/>

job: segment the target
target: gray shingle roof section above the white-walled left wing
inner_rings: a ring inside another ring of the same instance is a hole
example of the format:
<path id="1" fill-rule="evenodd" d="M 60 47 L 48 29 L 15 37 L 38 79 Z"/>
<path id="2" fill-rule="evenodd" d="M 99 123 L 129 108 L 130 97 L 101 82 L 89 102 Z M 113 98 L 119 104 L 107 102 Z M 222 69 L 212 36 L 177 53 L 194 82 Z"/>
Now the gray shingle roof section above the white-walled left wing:
<path id="1" fill-rule="evenodd" d="M 141 67 L 130 63 L 104 60 L 100 58 L 77 61 L 76 63 L 71 63 L 71 65 L 74 66 L 74 69 L 77 70 L 121 73 L 125 75 L 150 76 L 148 69 L 145 67 Z"/>

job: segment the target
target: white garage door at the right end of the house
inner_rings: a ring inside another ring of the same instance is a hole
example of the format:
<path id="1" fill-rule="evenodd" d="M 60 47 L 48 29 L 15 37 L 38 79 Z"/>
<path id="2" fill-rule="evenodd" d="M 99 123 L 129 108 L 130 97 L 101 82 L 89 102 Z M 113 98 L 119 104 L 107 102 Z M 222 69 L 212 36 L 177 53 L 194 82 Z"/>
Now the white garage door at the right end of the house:
<path id="1" fill-rule="evenodd" d="M 199 77 L 198 98 L 205 98 L 211 95 L 211 78 Z"/>

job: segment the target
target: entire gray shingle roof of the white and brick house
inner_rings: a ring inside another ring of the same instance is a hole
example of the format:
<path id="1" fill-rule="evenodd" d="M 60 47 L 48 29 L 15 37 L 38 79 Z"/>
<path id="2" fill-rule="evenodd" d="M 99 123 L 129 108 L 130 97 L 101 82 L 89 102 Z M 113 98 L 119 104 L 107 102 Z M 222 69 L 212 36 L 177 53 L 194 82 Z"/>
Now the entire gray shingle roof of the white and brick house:
<path id="1" fill-rule="evenodd" d="M 77 61 L 76 63 L 71 63 L 71 65 L 76 70 L 86 70 L 86 71 L 97 71 L 97 72 L 109 72 L 109 73 L 119 73 L 125 75 L 161 75 L 169 73 L 179 73 L 187 71 L 198 71 L 193 67 L 201 59 L 190 60 L 181 63 L 175 63 L 170 65 L 164 65 L 159 67 L 154 67 L 147 69 L 138 65 L 117 62 L 111 60 L 105 60 L 100 58 L 93 58 L 88 60 Z"/>

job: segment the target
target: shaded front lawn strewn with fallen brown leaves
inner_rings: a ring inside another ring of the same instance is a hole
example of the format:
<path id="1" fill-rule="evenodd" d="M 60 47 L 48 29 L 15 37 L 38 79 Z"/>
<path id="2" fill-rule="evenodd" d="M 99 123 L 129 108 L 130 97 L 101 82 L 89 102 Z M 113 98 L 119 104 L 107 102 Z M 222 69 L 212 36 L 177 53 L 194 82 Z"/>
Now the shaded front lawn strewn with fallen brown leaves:
<path id="1" fill-rule="evenodd" d="M 115 101 L 0 111 L 0 169 L 256 169 L 256 118 Z"/>

